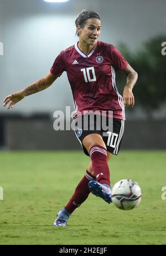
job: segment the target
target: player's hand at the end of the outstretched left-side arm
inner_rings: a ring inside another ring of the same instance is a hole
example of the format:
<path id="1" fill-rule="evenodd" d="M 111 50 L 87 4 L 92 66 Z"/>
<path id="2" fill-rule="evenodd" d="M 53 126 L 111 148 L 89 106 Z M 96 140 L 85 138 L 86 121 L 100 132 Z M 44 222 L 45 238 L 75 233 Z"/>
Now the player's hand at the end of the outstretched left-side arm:
<path id="1" fill-rule="evenodd" d="M 8 107 L 7 109 L 13 109 L 14 105 L 22 100 L 25 96 L 23 95 L 22 91 L 18 91 L 18 92 L 15 92 L 15 93 L 12 93 L 8 96 L 6 96 L 6 98 L 4 98 L 3 100 L 3 106 L 7 106 L 8 104 Z"/>

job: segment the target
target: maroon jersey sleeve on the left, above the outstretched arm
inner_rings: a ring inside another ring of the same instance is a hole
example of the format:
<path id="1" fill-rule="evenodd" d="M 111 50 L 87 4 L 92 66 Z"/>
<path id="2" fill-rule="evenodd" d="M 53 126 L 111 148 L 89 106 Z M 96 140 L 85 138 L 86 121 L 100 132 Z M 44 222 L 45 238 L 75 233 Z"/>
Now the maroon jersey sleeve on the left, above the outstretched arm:
<path id="1" fill-rule="evenodd" d="M 64 60 L 63 56 L 61 53 L 56 57 L 53 66 L 50 69 L 50 72 L 53 75 L 56 76 L 61 76 L 61 74 L 65 71 L 65 66 L 64 66 Z"/>

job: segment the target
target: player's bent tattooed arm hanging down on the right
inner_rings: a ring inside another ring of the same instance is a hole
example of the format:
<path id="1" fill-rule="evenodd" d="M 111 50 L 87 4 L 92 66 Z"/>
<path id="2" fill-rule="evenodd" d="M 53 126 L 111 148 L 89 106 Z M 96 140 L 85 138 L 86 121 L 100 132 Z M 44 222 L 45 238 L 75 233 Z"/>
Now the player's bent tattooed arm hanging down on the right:
<path id="1" fill-rule="evenodd" d="M 123 102 L 126 107 L 134 106 L 134 95 L 133 87 L 137 82 L 138 74 L 137 72 L 128 64 L 127 67 L 123 70 L 127 76 L 127 82 L 123 90 Z"/>

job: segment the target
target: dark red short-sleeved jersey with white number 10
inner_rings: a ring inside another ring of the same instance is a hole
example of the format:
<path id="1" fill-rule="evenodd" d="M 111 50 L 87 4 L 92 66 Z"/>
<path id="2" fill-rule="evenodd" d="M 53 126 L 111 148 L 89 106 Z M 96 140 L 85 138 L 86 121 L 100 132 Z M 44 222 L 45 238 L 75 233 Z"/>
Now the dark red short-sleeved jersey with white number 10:
<path id="1" fill-rule="evenodd" d="M 125 107 L 118 93 L 115 71 L 124 70 L 127 61 L 113 45 L 98 41 L 89 55 L 76 45 L 60 52 L 50 72 L 61 76 L 66 71 L 77 112 L 113 111 L 113 117 L 125 119 Z"/>

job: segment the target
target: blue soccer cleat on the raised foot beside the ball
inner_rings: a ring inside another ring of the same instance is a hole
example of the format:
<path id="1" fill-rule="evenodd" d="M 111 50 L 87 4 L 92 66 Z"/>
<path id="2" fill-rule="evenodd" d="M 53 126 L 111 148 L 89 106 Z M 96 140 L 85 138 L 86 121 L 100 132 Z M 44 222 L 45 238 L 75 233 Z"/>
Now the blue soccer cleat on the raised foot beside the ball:
<path id="1" fill-rule="evenodd" d="M 96 180 L 91 180 L 88 184 L 92 194 L 100 196 L 108 204 L 112 203 L 111 200 L 111 188 L 107 184 L 100 184 Z"/>

